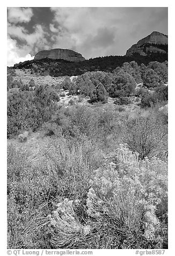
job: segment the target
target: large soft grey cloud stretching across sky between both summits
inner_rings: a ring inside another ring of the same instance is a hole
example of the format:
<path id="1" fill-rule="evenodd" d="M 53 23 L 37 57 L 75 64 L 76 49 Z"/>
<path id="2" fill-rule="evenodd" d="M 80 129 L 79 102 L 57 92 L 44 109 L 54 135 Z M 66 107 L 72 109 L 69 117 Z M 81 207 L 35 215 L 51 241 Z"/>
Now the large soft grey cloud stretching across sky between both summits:
<path id="1" fill-rule="evenodd" d="M 158 22 L 158 17 L 164 15 L 167 24 L 163 9 L 50 8 L 54 14 L 54 47 L 75 49 L 85 58 L 123 55 L 152 31 L 164 32 Z"/>

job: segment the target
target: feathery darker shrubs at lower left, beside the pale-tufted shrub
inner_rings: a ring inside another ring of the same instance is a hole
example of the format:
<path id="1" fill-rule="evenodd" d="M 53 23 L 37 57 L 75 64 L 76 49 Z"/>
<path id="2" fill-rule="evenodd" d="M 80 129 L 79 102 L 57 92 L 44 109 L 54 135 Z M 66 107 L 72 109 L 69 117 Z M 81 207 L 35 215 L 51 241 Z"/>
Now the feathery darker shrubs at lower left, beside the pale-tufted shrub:
<path id="1" fill-rule="evenodd" d="M 47 138 L 48 139 L 48 138 Z M 8 146 L 8 248 L 49 248 L 46 217 L 63 198 L 84 200 L 103 155 L 87 138 L 49 139 L 38 162 Z"/>

